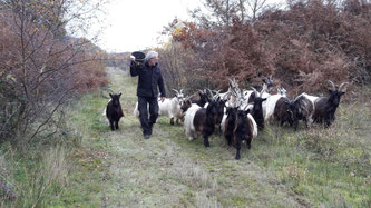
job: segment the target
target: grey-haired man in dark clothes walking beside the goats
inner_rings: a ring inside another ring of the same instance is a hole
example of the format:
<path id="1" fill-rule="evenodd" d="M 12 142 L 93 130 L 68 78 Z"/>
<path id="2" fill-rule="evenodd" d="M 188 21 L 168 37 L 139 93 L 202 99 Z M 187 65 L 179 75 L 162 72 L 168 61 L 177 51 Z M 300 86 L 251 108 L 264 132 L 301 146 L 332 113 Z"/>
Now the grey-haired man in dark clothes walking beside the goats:
<path id="1" fill-rule="evenodd" d="M 163 75 L 157 65 L 158 53 L 156 51 L 149 51 L 143 65 L 136 62 L 134 56 L 130 56 L 130 59 L 131 77 L 139 76 L 137 96 L 143 135 L 145 139 L 149 139 L 152 127 L 158 117 L 157 86 L 159 87 L 160 101 L 164 101 L 166 97 Z M 149 119 L 147 105 L 149 105 Z"/>

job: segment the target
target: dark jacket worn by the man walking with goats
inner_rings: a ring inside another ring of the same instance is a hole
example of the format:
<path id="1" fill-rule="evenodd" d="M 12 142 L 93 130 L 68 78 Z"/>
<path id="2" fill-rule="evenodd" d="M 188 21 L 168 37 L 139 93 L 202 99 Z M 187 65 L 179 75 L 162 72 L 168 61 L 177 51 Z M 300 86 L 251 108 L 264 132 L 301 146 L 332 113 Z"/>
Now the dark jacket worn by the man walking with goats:
<path id="1" fill-rule="evenodd" d="M 131 77 L 139 76 L 137 96 L 155 98 L 158 96 L 158 86 L 160 97 L 166 97 L 163 75 L 157 63 L 150 67 L 148 62 L 131 61 L 130 75 Z"/>

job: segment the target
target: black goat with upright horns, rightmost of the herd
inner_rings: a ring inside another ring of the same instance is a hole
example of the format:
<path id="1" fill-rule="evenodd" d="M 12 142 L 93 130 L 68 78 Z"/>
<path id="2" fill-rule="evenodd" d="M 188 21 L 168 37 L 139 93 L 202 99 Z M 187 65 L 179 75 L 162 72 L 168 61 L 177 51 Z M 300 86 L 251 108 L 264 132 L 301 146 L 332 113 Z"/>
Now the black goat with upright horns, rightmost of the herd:
<path id="1" fill-rule="evenodd" d="M 324 127 L 330 127 L 330 125 L 335 120 L 335 111 L 340 103 L 340 98 L 345 93 L 341 89 L 348 83 L 341 83 L 336 90 L 335 85 L 331 80 L 329 80 L 329 82 L 332 85 L 332 90 L 329 90 L 330 97 L 318 98 L 314 101 L 313 121 L 324 123 Z"/>

